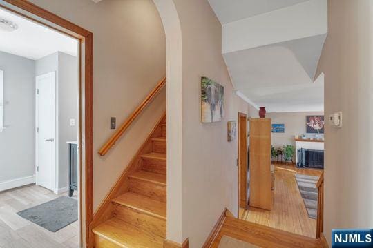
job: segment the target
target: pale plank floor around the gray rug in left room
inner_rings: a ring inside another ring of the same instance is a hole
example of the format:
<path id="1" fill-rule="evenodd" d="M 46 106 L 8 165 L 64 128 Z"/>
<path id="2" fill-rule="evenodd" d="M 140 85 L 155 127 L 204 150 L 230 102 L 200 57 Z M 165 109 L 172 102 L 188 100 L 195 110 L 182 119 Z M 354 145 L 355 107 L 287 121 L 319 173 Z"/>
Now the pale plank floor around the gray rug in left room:
<path id="1" fill-rule="evenodd" d="M 48 189 L 29 185 L 0 193 L 0 248 L 78 248 L 78 222 L 53 233 L 17 215 L 18 211 L 46 203 L 56 195 Z M 75 192 L 73 198 L 77 198 Z"/>

